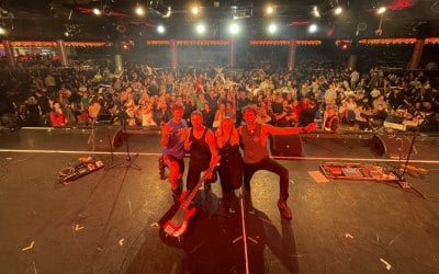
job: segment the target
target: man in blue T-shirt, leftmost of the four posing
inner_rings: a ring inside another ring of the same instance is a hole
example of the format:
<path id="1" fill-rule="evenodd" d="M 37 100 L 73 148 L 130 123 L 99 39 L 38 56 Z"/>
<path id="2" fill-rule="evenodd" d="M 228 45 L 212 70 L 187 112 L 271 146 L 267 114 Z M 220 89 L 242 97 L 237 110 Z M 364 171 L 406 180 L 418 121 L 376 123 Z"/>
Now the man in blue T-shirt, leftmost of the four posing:
<path id="1" fill-rule="evenodd" d="M 172 106 L 172 118 L 161 125 L 160 145 L 164 147 L 162 162 L 169 168 L 169 182 L 173 198 L 178 199 L 182 190 L 182 176 L 184 172 L 184 140 L 187 124 L 183 117 L 183 106 Z"/>

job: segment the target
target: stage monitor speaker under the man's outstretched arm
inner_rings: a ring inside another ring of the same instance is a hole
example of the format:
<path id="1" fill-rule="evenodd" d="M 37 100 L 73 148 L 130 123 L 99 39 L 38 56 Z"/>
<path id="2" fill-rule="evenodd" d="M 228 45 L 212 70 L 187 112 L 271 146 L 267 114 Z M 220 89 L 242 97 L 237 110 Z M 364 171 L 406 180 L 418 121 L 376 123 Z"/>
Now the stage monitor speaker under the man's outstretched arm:
<path id="1" fill-rule="evenodd" d="M 302 139 L 299 134 L 270 135 L 272 156 L 302 156 Z"/>

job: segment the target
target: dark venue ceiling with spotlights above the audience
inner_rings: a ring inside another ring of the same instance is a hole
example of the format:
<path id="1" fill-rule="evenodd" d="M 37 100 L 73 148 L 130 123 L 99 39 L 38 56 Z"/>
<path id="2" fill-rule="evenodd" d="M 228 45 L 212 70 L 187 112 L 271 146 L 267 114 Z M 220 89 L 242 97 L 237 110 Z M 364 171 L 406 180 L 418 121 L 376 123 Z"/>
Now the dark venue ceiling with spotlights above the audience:
<path id="1" fill-rule="evenodd" d="M 275 14 L 267 18 L 262 0 L 199 0 L 201 15 L 191 16 L 183 0 L 160 0 L 171 7 L 172 13 L 164 18 L 155 0 L 0 0 L 0 24 L 9 30 L 9 39 L 65 38 L 72 41 L 124 41 L 150 38 L 199 38 L 193 32 L 194 23 L 203 21 L 209 26 L 204 38 L 227 38 L 224 31 L 232 14 L 240 19 L 245 39 L 259 38 L 363 38 L 439 36 L 439 1 L 435 0 L 274 0 Z M 133 10 L 136 3 L 147 7 L 146 15 L 139 18 Z M 340 4 L 345 12 L 333 14 L 333 8 Z M 322 16 L 312 15 L 317 5 Z M 382 18 L 382 34 L 379 5 L 387 7 Z M 95 16 L 92 8 L 105 8 L 105 14 Z M 266 24 L 275 21 L 280 32 L 266 33 Z M 307 32 L 311 23 L 317 23 L 320 31 Z M 155 27 L 164 24 L 167 32 L 158 35 Z M 70 35 L 64 36 L 69 30 Z"/>

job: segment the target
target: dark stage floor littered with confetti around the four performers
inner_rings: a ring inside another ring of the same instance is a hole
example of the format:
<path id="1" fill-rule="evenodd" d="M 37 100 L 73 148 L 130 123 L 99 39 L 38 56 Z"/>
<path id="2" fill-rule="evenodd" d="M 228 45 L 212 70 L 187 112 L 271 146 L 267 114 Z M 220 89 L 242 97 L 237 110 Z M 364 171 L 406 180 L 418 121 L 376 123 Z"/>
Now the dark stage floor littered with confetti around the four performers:
<path id="1" fill-rule="evenodd" d="M 219 183 L 201 191 L 201 210 L 184 239 L 158 222 L 172 205 L 160 181 L 158 135 L 130 135 L 140 171 L 101 169 L 68 185 L 58 171 L 79 157 L 109 161 L 87 144 L 88 129 L 21 129 L 0 135 L 0 273 L 439 273 L 439 137 L 418 136 L 410 164 L 428 173 L 395 182 L 329 180 L 309 171 L 324 162 L 398 167 L 370 149 L 373 134 L 303 136 L 290 170 L 293 220 L 277 208 L 278 178 L 252 180 L 255 214 L 222 210 Z M 105 134 L 98 133 L 105 136 Z M 99 153 L 98 150 L 103 150 Z M 125 162 L 125 145 L 114 162 Z M 121 158 L 120 158 L 121 157 Z"/>

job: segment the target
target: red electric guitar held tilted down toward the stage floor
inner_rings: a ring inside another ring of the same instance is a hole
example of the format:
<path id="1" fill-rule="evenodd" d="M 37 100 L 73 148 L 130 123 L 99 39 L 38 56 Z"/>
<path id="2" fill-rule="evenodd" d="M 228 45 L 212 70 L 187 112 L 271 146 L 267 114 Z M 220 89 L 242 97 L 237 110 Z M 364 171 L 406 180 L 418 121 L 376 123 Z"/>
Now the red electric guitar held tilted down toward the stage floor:
<path id="1" fill-rule="evenodd" d="M 200 179 L 195 187 L 190 193 L 185 191 L 181 194 L 180 205 L 177 213 L 172 216 L 171 219 L 166 221 L 165 225 L 162 226 L 164 231 L 167 236 L 179 238 L 183 236 L 188 230 L 189 219 L 196 212 L 195 207 L 191 207 L 191 202 L 195 197 L 196 193 L 199 192 L 199 189 L 206 179 L 206 174 L 207 172 L 205 171 L 203 176 Z"/>

